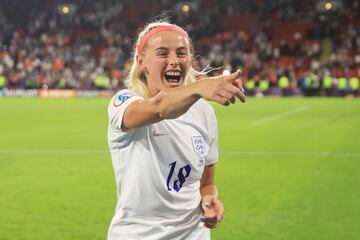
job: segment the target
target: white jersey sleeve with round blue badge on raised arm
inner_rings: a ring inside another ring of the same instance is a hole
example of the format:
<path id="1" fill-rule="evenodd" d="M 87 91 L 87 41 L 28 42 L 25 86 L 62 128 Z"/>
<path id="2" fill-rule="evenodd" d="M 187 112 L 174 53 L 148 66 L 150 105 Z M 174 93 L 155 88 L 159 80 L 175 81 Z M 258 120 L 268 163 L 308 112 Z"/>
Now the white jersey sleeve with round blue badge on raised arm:
<path id="1" fill-rule="evenodd" d="M 115 94 L 108 106 L 109 125 L 122 131 L 121 124 L 126 108 L 131 103 L 141 99 L 143 98 L 127 89 L 121 90 Z"/>

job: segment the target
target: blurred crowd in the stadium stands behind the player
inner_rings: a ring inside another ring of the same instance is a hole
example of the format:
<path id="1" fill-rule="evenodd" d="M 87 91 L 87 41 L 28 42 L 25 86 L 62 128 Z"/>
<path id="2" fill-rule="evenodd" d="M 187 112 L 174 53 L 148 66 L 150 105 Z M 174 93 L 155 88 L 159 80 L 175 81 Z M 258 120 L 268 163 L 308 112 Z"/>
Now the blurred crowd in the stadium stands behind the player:
<path id="1" fill-rule="evenodd" d="M 358 0 L 4 0 L 0 89 L 124 88 L 136 29 L 168 16 L 198 68 L 243 69 L 248 94 L 358 95 L 359 14 Z"/>

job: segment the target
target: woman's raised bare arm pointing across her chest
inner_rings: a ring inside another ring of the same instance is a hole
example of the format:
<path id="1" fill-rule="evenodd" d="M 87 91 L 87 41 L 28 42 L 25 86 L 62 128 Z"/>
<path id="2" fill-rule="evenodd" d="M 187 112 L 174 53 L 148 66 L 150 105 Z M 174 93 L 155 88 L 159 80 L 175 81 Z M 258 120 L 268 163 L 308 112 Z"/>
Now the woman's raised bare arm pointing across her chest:
<path id="1" fill-rule="evenodd" d="M 156 96 L 131 103 L 125 110 L 122 128 L 131 129 L 159 122 L 163 119 L 173 119 L 184 114 L 196 101 L 205 98 L 225 106 L 235 102 L 238 97 L 245 102 L 245 95 L 240 86 L 235 86 L 235 80 L 241 72 L 228 76 L 204 78 L 187 86 L 168 88 Z"/>

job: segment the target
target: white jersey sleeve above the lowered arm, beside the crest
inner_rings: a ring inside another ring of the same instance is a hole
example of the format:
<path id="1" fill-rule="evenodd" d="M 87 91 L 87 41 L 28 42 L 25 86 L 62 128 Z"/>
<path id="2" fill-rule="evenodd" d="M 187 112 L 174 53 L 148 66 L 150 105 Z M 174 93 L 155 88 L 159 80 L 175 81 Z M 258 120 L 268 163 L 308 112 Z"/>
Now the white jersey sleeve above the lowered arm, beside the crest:
<path id="1" fill-rule="evenodd" d="M 210 138 L 209 151 L 206 155 L 205 165 L 211 165 L 219 159 L 219 145 L 218 145 L 218 126 L 214 110 L 210 107 L 210 113 L 208 118 L 208 132 Z"/>

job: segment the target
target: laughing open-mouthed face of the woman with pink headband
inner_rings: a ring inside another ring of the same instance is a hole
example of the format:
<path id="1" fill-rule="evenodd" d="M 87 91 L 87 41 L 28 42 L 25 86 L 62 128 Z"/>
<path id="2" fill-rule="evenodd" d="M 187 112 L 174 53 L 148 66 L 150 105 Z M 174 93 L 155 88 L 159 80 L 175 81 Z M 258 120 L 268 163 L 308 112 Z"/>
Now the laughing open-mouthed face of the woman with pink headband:
<path id="1" fill-rule="evenodd" d="M 179 32 L 158 32 L 146 43 L 138 64 L 145 74 L 151 96 L 166 88 L 180 86 L 191 67 L 189 40 Z"/>

